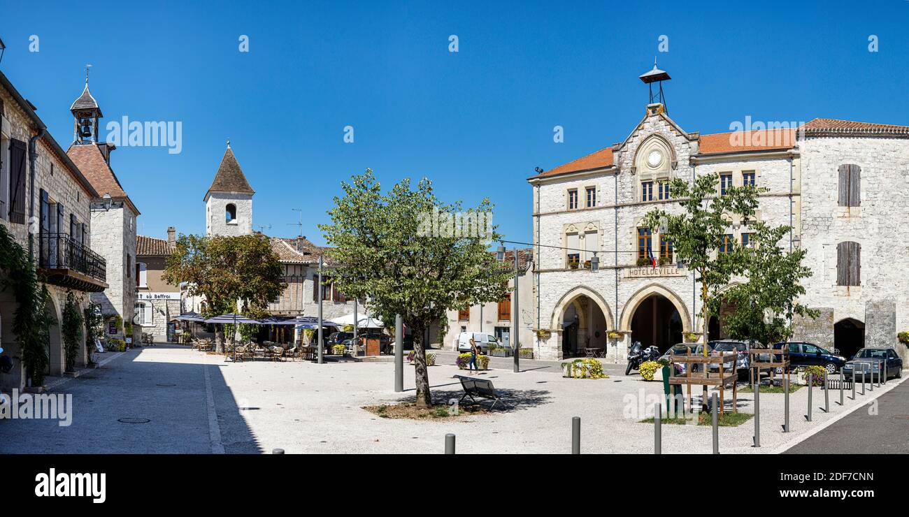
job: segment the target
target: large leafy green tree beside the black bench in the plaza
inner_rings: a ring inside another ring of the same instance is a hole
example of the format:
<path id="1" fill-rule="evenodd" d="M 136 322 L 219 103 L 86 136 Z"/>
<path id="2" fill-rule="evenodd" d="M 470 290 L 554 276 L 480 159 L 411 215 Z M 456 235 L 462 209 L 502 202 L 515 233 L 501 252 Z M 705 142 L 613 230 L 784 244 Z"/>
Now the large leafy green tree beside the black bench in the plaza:
<path id="1" fill-rule="evenodd" d="M 490 214 L 492 204 L 484 199 L 463 212 L 460 202 L 440 202 L 425 178 L 416 189 L 405 179 L 382 194 L 370 169 L 341 186 L 345 195 L 328 213 L 332 224 L 319 225 L 334 246 L 327 253 L 338 265 L 332 279 L 348 297 L 368 295 L 369 313 L 386 325 L 402 315 L 414 336 L 416 404 L 429 407 L 425 329 L 446 311 L 501 300 L 508 291 L 510 272 L 487 249 L 501 238 L 494 227 L 487 234 L 455 231 L 462 226 L 454 214 Z"/>

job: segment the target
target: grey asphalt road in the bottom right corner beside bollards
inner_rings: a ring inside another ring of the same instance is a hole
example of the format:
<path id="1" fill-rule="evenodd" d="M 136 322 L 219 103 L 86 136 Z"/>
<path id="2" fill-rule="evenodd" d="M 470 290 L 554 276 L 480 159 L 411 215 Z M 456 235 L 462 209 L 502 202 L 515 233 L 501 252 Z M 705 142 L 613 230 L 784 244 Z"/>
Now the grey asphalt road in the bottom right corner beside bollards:
<path id="1" fill-rule="evenodd" d="M 877 402 L 876 415 L 869 414 L 874 409 L 870 405 L 859 408 L 784 453 L 909 453 L 909 381 L 884 393 Z"/>

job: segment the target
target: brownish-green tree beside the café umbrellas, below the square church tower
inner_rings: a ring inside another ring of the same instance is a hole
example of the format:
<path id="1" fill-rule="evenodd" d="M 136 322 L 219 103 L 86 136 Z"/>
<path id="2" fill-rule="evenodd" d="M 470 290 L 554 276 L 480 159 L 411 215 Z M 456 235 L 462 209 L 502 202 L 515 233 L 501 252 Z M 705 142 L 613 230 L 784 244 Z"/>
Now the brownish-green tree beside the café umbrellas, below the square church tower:
<path id="1" fill-rule="evenodd" d="M 165 263 L 162 278 L 168 283 L 187 283 L 191 296 L 205 296 L 206 317 L 236 311 L 265 313 L 287 284 L 283 268 L 264 235 L 201 237 L 183 235 Z M 224 326 L 215 331 L 215 351 L 224 352 Z"/>

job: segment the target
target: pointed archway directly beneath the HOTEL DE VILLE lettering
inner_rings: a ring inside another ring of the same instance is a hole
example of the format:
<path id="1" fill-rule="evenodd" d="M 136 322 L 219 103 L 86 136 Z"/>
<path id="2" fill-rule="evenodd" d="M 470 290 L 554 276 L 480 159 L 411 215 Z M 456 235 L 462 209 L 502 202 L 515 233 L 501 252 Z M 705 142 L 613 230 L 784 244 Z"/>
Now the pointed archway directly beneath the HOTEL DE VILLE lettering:
<path id="1" fill-rule="evenodd" d="M 641 289 L 625 304 L 620 328 L 631 333 L 631 341 L 644 346 L 655 345 L 665 352 L 682 343 L 683 334 L 691 332 L 691 319 L 681 299 L 659 284 Z"/>

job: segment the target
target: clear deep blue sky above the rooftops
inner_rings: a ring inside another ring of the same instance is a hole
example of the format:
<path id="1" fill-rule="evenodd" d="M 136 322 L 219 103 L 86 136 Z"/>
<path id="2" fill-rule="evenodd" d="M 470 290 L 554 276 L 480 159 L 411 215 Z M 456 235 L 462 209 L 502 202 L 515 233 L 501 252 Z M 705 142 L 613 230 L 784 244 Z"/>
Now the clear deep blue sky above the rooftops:
<path id="1" fill-rule="evenodd" d="M 324 244 L 316 224 L 339 182 L 372 167 L 388 185 L 427 176 L 448 202 L 488 196 L 506 238 L 529 241 L 525 179 L 624 139 L 644 114 L 637 76 L 654 55 L 687 131 L 728 131 L 748 115 L 909 124 L 905 0 L 5 4 L 16 22 L 0 28 L 0 70 L 61 144 L 85 63 L 103 122 L 182 122 L 180 154 L 112 156 L 140 233 L 159 237 L 168 225 L 205 232 L 202 199 L 230 137 L 268 234 L 295 235 L 301 208 L 303 234 Z M 661 35 L 669 52 L 657 52 Z"/>

